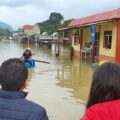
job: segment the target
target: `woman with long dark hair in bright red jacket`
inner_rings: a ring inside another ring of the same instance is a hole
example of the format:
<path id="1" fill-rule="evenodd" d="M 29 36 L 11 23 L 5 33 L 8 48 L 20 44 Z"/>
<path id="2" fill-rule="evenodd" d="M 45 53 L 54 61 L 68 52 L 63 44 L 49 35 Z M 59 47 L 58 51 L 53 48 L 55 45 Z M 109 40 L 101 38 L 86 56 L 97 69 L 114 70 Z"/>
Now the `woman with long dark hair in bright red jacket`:
<path id="1" fill-rule="evenodd" d="M 86 113 L 80 120 L 120 120 L 120 66 L 104 63 L 93 74 Z"/>

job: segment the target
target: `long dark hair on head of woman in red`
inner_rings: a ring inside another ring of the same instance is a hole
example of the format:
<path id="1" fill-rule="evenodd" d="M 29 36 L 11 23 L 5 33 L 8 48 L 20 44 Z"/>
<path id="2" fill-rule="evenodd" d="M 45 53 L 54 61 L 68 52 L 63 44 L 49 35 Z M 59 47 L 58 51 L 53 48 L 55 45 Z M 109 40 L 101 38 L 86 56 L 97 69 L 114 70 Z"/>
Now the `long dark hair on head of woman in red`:
<path id="1" fill-rule="evenodd" d="M 94 72 L 86 108 L 120 99 L 120 66 L 106 62 Z"/>

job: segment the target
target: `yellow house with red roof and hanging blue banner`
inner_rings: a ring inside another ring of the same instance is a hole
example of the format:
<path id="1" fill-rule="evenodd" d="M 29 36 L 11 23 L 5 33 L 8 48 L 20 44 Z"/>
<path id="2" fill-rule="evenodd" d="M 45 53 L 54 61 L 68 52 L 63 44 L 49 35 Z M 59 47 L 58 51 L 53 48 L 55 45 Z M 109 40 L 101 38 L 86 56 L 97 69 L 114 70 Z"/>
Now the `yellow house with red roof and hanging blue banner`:
<path id="1" fill-rule="evenodd" d="M 91 46 L 92 61 L 109 60 L 120 63 L 120 8 L 71 21 L 74 55 L 81 58 L 82 50 Z M 91 41 L 92 38 L 92 41 Z"/>

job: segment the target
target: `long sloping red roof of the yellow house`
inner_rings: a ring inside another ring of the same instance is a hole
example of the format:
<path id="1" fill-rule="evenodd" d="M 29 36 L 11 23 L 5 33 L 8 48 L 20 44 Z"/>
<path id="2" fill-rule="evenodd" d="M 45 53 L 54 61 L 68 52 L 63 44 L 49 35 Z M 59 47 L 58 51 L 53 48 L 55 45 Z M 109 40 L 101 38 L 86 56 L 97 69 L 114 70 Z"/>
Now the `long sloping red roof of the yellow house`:
<path id="1" fill-rule="evenodd" d="M 104 12 L 104 13 L 84 17 L 81 19 L 75 19 L 68 25 L 68 27 L 75 27 L 75 26 L 80 26 L 95 22 L 101 22 L 101 21 L 111 20 L 114 18 L 120 18 L 120 8 L 109 12 Z"/>

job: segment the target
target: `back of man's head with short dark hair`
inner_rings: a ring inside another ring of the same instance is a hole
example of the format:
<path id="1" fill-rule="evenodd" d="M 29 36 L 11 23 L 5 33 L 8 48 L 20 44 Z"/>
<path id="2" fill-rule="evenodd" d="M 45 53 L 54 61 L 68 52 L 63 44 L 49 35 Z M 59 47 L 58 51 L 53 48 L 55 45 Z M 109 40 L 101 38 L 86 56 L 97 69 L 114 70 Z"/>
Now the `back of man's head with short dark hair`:
<path id="1" fill-rule="evenodd" d="M 21 90 L 27 77 L 28 69 L 19 59 L 8 59 L 0 66 L 0 84 L 3 90 Z"/>

